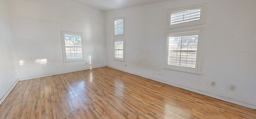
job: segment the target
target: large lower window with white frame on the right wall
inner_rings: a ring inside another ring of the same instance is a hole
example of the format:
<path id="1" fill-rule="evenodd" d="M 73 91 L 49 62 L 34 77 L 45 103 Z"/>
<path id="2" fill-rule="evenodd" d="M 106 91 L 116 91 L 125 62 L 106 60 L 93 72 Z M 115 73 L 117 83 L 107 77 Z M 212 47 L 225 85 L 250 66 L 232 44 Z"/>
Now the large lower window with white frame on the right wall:
<path id="1" fill-rule="evenodd" d="M 203 29 L 167 33 L 165 68 L 200 74 Z"/>

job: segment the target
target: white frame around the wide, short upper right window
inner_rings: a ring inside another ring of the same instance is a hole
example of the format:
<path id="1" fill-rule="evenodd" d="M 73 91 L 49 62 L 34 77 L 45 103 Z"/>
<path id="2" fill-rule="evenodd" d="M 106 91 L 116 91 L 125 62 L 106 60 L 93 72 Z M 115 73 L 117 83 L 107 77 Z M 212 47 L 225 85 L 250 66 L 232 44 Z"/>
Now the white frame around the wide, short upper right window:
<path id="1" fill-rule="evenodd" d="M 188 21 L 183 23 L 177 23 L 171 25 L 171 14 L 175 14 L 178 12 L 186 11 L 186 10 L 194 10 L 194 9 L 201 9 L 200 10 L 200 19 L 194 20 L 194 21 Z M 167 29 L 175 29 L 179 27 L 187 27 L 192 25 L 199 25 L 205 23 L 205 15 L 206 15 L 206 4 L 198 4 L 194 6 L 186 6 L 181 8 L 174 8 L 168 10 L 168 16 L 167 16 Z"/>

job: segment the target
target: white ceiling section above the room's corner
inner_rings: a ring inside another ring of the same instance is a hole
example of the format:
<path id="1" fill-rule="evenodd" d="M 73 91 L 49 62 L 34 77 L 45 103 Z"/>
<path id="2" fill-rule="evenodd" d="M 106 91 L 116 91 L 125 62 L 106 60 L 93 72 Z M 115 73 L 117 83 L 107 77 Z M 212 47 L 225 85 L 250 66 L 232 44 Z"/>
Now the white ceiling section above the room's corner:
<path id="1" fill-rule="evenodd" d="M 129 8 L 168 0 L 72 0 L 102 11 Z"/>

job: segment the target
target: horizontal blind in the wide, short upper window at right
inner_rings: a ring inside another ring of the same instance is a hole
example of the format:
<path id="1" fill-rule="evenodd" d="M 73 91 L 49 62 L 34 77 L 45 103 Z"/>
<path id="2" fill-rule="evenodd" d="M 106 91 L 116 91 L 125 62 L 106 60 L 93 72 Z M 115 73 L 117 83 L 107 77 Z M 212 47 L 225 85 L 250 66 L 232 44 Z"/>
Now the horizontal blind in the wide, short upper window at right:
<path id="1" fill-rule="evenodd" d="M 200 20 L 201 9 L 185 10 L 171 14 L 170 24 L 184 23 L 188 21 Z"/>

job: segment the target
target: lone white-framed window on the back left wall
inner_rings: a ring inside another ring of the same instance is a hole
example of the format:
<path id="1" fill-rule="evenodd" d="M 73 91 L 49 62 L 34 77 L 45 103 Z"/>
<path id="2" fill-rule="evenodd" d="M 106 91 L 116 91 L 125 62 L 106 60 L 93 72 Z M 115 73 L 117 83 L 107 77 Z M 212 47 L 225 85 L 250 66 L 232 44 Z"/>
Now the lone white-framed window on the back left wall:
<path id="1" fill-rule="evenodd" d="M 61 31 L 64 62 L 84 60 L 82 33 Z"/>

